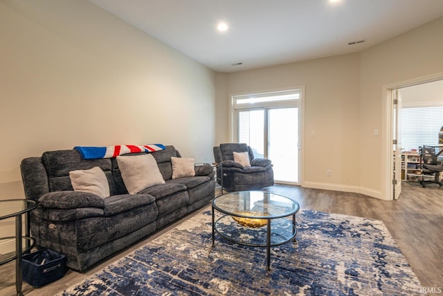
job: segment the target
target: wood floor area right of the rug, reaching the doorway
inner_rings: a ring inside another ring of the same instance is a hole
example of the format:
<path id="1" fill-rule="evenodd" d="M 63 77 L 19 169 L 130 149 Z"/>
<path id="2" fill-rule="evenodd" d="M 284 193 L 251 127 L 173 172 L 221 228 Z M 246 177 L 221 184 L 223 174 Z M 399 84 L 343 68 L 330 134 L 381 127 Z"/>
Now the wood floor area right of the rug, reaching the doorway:
<path id="1" fill-rule="evenodd" d="M 404 182 L 399 200 L 355 193 L 275 186 L 302 209 L 382 220 L 424 287 L 443 292 L 443 190 Z M 441 294 L 440 294 L 441 295 Z"/>

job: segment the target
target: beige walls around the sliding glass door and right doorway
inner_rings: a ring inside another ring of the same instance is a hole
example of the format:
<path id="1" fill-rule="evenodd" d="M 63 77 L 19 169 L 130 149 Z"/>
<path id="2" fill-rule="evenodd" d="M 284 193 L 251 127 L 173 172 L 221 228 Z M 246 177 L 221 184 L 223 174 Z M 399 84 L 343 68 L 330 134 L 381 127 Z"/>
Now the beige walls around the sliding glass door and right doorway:
<path id="1" fill-rule="evenodd" d="M 442 53 L 440 18 L 362 53 L 229 73 L 228 90 L 217 100 L 229 103 L 235 93 L 305 86 L 302 186 L 389 199 L 385 160 L 390 146 L 384 131 L 390 127 L 383 117 L 383 86 L 442 73 Z M 218 116 L 217 123 L 228 126 L 229 114 Z M 229 138 L 224 132 L 217 139 Z M 332 177 L 326 177 L 327 169 Z"/>

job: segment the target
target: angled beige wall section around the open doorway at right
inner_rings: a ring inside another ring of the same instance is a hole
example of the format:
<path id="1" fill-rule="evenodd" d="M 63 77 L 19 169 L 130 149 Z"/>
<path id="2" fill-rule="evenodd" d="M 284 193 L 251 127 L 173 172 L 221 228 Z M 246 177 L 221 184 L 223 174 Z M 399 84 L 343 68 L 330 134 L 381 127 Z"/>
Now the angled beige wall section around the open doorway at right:
<path id="1" fill-rule="evenodd" d="M 387 105 L 383 88 L 440 73 L 443 77 L 442 53 L 443 17 L 361 53 L 359 158 L 365 169 L 359 174 L 360 184 L 379 192 L 381 198 L 390 195 L 387 186 L 383 186 L 388 178 L 383 168 L 389 161 L 386 155 L 390 148 L 390 126 L 383 119 Z M 370 137 L 374 128 L 380 128 L 381 137 Z"/>

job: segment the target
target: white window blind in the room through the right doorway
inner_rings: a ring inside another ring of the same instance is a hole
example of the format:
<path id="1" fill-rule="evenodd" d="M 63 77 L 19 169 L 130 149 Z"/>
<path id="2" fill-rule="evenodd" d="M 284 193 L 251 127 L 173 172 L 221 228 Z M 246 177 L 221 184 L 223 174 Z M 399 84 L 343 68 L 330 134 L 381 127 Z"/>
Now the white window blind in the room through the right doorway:
<path id="1" fill-rule="evenodd" d="M 436 146 L 442 125 L 443 106 L 401 108 L 401 148 L 418 150 L 423 145 Z"/>

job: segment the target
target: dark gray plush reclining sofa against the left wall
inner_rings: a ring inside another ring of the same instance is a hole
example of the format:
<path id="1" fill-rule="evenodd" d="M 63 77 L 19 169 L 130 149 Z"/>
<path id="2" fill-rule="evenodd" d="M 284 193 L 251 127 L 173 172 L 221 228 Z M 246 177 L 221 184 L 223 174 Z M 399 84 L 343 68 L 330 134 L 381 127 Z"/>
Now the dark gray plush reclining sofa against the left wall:
<path id="1" fill-rule="evenodd" d="M 24 159 L 21 175 L 26 198 L 40 202 L 30 213 L 37 247 L 64 254 L 69 268 L 83 271 L 214 198 L 211 166 L 195 166 L 195 177 L 172 180 L 171 157 L 181 157 L 179 152 L 166 146 L 152 155 L 165 184 L 138 194 L 127 192 L 116 158 L 82 159 L 78 150 L 58 150 Z M 73 191 L 69 171 L 94 166 L 105 172 L 108 198 Z"/>

